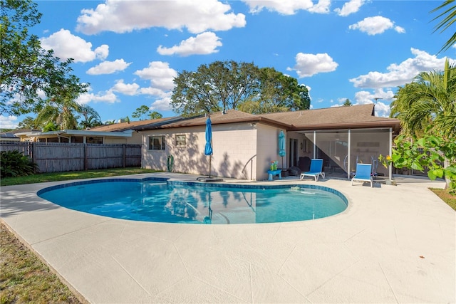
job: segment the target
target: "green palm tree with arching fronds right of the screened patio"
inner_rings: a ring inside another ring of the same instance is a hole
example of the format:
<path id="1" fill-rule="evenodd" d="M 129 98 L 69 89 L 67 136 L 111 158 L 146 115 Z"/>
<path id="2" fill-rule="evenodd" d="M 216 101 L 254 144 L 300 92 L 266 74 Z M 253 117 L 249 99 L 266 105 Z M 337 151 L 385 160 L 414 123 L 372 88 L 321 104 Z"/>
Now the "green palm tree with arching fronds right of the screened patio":
<path id="1" fill-rule="evenodd" d="M 425 143 L 425 137 L 435 138 L 438 153 L 443 157 L 447 187 L 452 184 L 456 169 L 456 67 L 445 61 L 445 70 L 420 73 L 412 83 L 400 87 L 391 103 L 391 116 L 397 117 L 403 133 Z M 406 140 L 406 138 L 405 138 Z M 410 145 L 408 145 L 410 147 Z M 400 159 L 413 157 L 400 155 Z M 416 160 L 416 159 L 415 159 Z M 418 159 L 419 160 L 419 159 Z M 432 162 L 431 159 L 428 159 Z"/>

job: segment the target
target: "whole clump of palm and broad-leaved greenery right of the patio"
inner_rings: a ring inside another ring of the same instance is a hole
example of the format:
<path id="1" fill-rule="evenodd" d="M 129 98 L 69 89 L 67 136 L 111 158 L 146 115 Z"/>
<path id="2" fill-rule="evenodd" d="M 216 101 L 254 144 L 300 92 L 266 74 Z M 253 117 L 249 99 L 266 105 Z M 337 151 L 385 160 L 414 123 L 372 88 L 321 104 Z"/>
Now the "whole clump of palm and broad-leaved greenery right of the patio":
<path id="1" fill-rule="evenodd" d="M 456 190 L 456 67 L 420 73 L 400 87 L 391 103 L 391 116 L 400 119 L 403 135 L 395 140 L 390 163 L 410 167 L 428 177 L 445 177 Z M 381 158 L 381 156 L 380 156 Z"/>

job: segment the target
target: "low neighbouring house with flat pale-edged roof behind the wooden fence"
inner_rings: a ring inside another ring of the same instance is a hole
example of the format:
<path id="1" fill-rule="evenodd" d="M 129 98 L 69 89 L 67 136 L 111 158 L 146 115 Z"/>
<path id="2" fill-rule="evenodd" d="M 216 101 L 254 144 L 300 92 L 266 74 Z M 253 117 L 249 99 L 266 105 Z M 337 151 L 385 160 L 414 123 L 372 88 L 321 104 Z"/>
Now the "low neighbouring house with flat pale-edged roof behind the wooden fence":
<path id="1" fill-rule="evenodd" d="M 16 133 L 21 142 L 73 142 L 87 144 L 141 144 L 141 135 L 133 127 L 160 123 L 170 118 L 119 122 L 113 125 L 101 125 L 86 130 L 29 131 Z"/>

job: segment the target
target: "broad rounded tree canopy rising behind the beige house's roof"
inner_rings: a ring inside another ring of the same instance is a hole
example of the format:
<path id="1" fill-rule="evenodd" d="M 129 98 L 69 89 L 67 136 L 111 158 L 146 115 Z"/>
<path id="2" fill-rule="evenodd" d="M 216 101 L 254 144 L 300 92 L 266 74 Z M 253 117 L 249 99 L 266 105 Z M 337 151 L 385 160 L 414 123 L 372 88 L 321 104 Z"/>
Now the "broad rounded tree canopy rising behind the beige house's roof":
<path id="1" fill-rule="evenodd" d="M 295 78 L 253 63 L 215 61 L 174 79 L 172 109 L 182 116 L 234 109 L 254 114 L 310 108 L 309 90 Z"/>

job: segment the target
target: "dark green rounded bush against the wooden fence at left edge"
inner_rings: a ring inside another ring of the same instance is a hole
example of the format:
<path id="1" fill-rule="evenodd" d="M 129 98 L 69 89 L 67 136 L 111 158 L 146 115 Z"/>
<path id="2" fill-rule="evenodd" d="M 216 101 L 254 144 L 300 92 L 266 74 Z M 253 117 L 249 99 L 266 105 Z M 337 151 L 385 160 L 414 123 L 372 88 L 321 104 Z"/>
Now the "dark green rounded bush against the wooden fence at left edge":
<path id="1" fill-rule="evenodd" d="M 22 177 L 35 173 L 38 166 L 18 150 L 0 152 L 1 177 Z"/>

